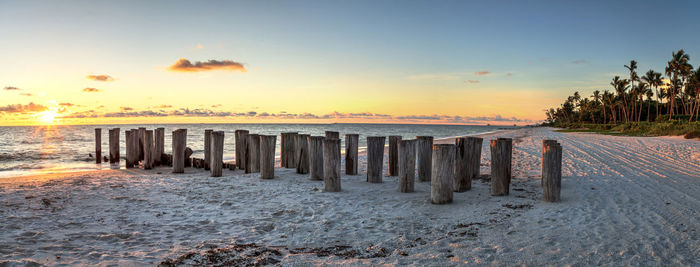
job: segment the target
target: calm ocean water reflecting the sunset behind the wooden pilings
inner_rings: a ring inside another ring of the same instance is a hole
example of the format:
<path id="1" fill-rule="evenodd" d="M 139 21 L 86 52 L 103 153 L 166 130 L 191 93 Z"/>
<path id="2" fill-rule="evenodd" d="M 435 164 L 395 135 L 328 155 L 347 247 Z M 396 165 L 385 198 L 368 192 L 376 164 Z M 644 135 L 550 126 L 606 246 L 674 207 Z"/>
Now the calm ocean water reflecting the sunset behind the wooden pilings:
<path id="1" fill-rule="evenodd" d="M 436 139 L 509 128 L 504 126 L 479 125 L 418 125 L 418 124 L 120 124 L 120 125 L 50 125 L 50 126 L 5 126 L 0 127 L 0 178 L 38 173 L 84 171 L 114 168 L 109 163 L 95 164 L 90 157 L 95 153 L 95 128 L 102 128 L 102 155 L 109 156 L 108 129 L 120 129 L 120 168 L 124 168 L 126 148 L 124 131 L 146 127 L 165 128 L 165 152 L 171 150 L 171 133 L 175 129 L 187 129 L 187 146 L 194 157 L 203 157 L 204 130 L 224 131 L 224 160 L 234 159 L 234 131 L 249 130 L 250 133 L 277 135 L 279 156 L 279 134 L 299 132 L 324 135 L 325 131 L 340 132 L 341 146 L 344 135 L 360 135 L 360 150 L 366 146 L 367 136 L 400 135 L 404 139 L 427 135 Z M 388 142 L 388 140 L 387 140 Z M 344 151 L 341 149 L 341 151 Z"/>

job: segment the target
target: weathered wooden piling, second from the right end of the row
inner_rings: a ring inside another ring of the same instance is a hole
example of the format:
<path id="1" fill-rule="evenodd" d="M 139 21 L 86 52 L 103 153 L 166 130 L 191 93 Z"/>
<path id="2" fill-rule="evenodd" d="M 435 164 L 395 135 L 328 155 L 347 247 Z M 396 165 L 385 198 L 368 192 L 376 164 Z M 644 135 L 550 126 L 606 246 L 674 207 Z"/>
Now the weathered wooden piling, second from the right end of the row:
<path id="1" fill-rule="evenodd" d="M 489 140 L 491 146 L 491 195 L 507 196 L 510 193 L 511 157 L 513 139 Z"/>

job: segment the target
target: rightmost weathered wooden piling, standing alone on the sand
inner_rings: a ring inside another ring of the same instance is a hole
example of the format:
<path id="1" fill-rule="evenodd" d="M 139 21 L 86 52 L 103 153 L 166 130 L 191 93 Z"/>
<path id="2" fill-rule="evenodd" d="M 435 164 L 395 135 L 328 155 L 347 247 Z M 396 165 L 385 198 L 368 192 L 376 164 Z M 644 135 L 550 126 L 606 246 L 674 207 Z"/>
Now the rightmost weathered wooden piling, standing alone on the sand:
<path id="1" fill-rule="evenodd" d="M 561 144 L 555 140 L 542 141 L 542 198 L 544 201 L 561 201 L 561 157 Z"/>

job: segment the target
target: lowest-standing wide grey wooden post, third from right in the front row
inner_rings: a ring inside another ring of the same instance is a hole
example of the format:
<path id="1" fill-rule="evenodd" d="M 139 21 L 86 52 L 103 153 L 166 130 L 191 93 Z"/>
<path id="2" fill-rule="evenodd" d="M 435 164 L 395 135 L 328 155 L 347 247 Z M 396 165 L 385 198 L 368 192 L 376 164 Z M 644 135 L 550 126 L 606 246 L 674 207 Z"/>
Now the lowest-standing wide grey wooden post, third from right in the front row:
<path id="1" fill-rule="evenodd" d="M 452 180 L 455 174 L 455 145 L 433 145 L 433 169 L 430 180 L 430 202 L 452 202 Z"/>

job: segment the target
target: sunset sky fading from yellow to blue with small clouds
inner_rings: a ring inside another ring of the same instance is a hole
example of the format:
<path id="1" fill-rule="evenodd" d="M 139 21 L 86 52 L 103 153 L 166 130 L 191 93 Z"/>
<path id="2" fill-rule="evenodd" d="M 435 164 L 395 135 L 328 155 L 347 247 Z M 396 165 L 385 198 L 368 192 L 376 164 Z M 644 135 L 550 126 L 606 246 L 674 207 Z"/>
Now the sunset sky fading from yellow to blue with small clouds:
<path id="1" fill-rule="evenodd" d="M 0 125 L 533 124 L 639 62 L 700 65 L 698 1 L 0 1 Z"/>

